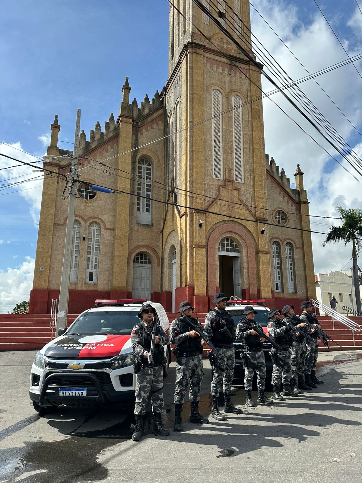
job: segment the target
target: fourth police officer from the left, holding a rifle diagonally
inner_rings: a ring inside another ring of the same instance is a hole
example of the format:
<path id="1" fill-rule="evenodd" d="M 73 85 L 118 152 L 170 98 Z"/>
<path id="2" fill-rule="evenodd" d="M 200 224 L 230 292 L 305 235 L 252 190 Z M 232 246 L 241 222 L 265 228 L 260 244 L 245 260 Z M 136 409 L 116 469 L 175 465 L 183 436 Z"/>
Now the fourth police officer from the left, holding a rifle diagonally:
<path id="1" fill-rule="evenodd" d="M 257 385 L 258 385 L 258 403 L 269 403 L 272 404 L 273 399 L 268 399 L 265 397 L 265 357 L 263 352 L 263 342 L 266 341 L 265 337 L 260 337 L 259 334 L 253 330 L 252 326 L 257 326 L 261 330 L 263 327 L 254 321 L 254 317 L 257 314 L 251 305 L 247 305 L 244 309 L 244 317 L 237 324 L 237 340 L 242 341 L 245 344 L 245 354 L 244 354 L 244 366 L 245 366 L 245 377 L 244 377 L 244 388 L 246 392 L 246 403 L 251 408 L 255 407 L 251 398 L 251 385 L 254 377 L 254 371 L 257 374 Z"/>

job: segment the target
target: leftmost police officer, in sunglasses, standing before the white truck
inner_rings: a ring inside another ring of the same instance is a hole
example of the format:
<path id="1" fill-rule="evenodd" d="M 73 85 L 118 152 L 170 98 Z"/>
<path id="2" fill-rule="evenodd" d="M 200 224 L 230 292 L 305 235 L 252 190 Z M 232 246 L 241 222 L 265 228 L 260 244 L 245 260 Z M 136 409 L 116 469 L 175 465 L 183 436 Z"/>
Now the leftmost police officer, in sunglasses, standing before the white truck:
<path id="1" fill-rule="evenodd" d="M 142 435 L 143 416 L 146 413 L 148 398 L 151 396 L 153 411 L 153 431 L 162 436 L 168 436 L 170 432 L 165 429 L 161 420 L 164 407 L 163 387 L 163 345 L 169 343 L 169 337 L 163 328 L 157 323 L 156 311 L 150 304 L 142 305 L 138 314 L 140 322 L 133 327 L 131 334 L 132 349 L 139 361 L 140 369 L 136 373 L 136 405 L 135 405 L 135 430 L 132 440 L 139 441 Z M 151 339 L 153 326 L 155 332 L 154 367 L 149 367 Z"/>

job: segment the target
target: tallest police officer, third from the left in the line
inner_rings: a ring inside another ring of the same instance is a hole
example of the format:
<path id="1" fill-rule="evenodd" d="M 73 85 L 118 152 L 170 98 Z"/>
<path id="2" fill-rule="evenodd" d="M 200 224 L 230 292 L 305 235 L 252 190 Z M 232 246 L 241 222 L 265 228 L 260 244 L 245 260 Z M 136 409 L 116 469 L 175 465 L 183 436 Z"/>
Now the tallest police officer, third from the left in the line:
<path id="1" fill-rule="evenodd" d="M 223 385 L 224 412 L 241 414 L 242 410 L 236 408 L 231 402 L 231 383 L 234 378 L 235 367 L 235 325 L 226 311 L 228 298 L 223 293 L 217 293 L 212 303 L 215 309 L 210 310 L 205 318 L 205 330 L 211 342 L 219 349 L 220 356 L 213 367 L 214 375 L 211 382 L 211 416 L 218 421 L 224 421 L 225 416 L 219 411 L 219 392 Z"/>

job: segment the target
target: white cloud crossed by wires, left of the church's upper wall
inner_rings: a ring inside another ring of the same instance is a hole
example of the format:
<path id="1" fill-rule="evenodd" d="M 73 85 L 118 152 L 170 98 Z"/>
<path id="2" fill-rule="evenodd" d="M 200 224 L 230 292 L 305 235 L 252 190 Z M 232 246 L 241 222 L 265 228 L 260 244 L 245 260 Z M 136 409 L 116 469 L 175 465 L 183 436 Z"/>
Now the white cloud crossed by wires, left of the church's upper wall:
<path id="1" fill-rule="evenodd" d="M 21 183 L 19 185 L 9 186 L 2 191 L 2 194 L 9 193 L 9 202 L 11 197 L 14 196 L 10 194 L 12 191 L 19 191 L 19 195 L 26 199 L 29 205 L 29 212 L 34 221 L 34 225 L 37 226 L 39 223 L 40 207 L 42 203 L 42 182 L 43 173 L 42 171 L 33 172 L 36 168 L 42 168 L 42 162 L 36 162 L 36 158 L 27 153 L 22 153 L 17 151 L 22 149 L 20 142 L 15 142 L 13 144 L 1 145 L 1 152 L 7 156 L 12 156 L 15 159 L 24 161 L 26 163 L 34 163 L 34 168 L 17 163 L 12 159 L 0 156 L 0 168 L 5 168 L 7 166 L 14 166 L 13 168 L 0 170 L 0 180 L 7 180 L 9 178 L 15 178 L 9 180 L 8 183 L 27 181 L 26 183 Z M 33 179 L 32 179 L 33 178 Z M 10 243 L 10 241 L 8 241 Z"/>

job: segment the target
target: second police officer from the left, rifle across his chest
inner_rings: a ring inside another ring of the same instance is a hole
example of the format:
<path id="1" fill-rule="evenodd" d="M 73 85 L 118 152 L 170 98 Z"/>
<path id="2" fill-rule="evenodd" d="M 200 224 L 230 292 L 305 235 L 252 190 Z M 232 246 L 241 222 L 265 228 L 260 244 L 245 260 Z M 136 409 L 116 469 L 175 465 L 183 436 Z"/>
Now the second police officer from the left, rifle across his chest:
<path id="1" fill-rule="evenodd" d="M 175 431 L 182 431 L 182 404 L 185 399 L 187 385 L 190 385 L 191 414 L 190 423 L 209 423 L 208 419 L 201 416 L 198 410 L 200 399 L 200 388 L 202 381 L 202 340 L 196 330 L 190 326 L 187 319 L 182 320 L 186 315 L 197 325 L 198 320 L 191 317 L 194 307 L 189 302 L 181 302 L 177 317 L 170 327 L 171 343 L 175 344 L 176 351 L 176 388 L 175 388 Z"/>

